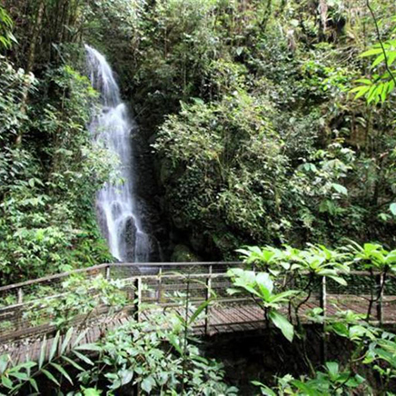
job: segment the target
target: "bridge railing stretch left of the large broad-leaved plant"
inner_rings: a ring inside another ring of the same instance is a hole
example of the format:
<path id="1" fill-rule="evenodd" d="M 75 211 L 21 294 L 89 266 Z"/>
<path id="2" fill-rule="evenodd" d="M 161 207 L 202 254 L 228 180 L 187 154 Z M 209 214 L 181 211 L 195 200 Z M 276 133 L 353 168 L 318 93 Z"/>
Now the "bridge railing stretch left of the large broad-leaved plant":
<path id="1" fill-rule="evenodd" d="M 123 306 L 123 312 L 135 312 L 139 317 L 143 305 L 176 307 L 187 292 L 187 284 L 192 303 L 209 299 L 213 293 L 225 297 L 230 284 L 226 272 L 241 265 L 241 262 L 109 263 L 3 286 L 0 287 L 0 343 L 54 332 L 59 322 L 54 312 L 56 307 L 51 307 L 49 302 L 60 299 L 64 302 L 68 295 L 78 293 L 78 288 L 73 292 L 68 289 L 76 278 L 85 284 L 98 276 L 120 281 L 129 302 Z M 86 324 L 87 317 L 90 322 L 97 322 L 98 318 L 106 322 L 111 307 L 101 302 L 100 291 L 93 288 L 87 298 L 96 301 L 92 304 L 93 312 L 76 314 L 73 324 Z M 64 306 L 65 310 L 70 308 L 67 303 Z M 58 313 L 62 317 L 68 312 Z"/>

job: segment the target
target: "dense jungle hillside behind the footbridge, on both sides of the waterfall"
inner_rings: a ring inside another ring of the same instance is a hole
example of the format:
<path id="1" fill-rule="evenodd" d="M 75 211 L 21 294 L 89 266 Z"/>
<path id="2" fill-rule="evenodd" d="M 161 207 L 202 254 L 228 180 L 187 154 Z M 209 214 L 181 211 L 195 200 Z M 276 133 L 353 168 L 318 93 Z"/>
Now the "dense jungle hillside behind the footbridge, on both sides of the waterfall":
<path id="1" fill-rule="evenodd" d="M 153 145 L 150 196 L 173 259 L 231 258 L 246 243 L 394 243 L 394 81 L 379 46 L 392 69 L 391 0 L 371 2 L 377 25 L 362 0 L 3 7 L 7 282 L 108 259 L 92 201 L 114 158 L 86 134 L 83 42 L 114 64 Z"/>

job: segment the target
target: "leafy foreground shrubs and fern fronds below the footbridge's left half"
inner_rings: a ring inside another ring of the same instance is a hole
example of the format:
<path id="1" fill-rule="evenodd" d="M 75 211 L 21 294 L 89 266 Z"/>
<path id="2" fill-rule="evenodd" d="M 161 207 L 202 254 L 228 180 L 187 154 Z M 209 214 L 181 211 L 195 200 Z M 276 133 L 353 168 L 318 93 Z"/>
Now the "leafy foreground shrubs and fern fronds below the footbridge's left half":
<path id="1" fill-rule="evenodd" d="M 84 282 L 79 282 L 79 289 L 89 290 Z M 68 297 L 75 297 L 75 292 Z M 105 303 L 113 308 L 119 305 L 114 298 Z M 0 391 L 10 395 L 28 389 L 58 392 L 72 386 L 72 394 L 82 395 L 139 389 L 141 394 L 235 396 L 238 389 L 224 381 L 222 364 L 205 358 L 190 335 L 186 338 L 192 320 L 183 322 L 174 313 L 154 314 L 150 322 L 131 319 L 89 344 L 82 343 L 87 331 L 77 337 L 73 327 L 64 336 L 57 332 L 50 349 L 44 339 L 37 362 L 27 357 L 15 365 L 9 355 L 0 358 Z"/>

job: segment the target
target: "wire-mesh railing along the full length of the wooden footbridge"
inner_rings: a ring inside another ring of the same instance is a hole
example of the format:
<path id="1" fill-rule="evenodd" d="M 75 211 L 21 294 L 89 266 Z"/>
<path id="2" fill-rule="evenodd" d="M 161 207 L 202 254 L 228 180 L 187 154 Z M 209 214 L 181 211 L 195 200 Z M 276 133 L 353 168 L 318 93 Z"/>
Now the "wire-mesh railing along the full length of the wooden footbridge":
<path id="1" fill-rule="evenodd" d="M 100 290 L 89 289 L 88 293 L 85 291 L 83 298 L 95 302 L 93 312 L 80 314 L 77 309 L 78 314 L 74 315 L 73 324 L 87 325 L 92 322 L 97 326 L 106 325 L 114 314 L 132 313 L 140 320 L 143 306 L 150 306 L 151 310 L 173 309 L 182 312 L 188 296 L 190 304 L 195 306 L 213 300 L 213 303 L 206 305 L 203 320 L 195 324 L 202 332 L 209 333 L 212 328 L 222 325 L 219 317 L 227 315 L 233 307 L 253 304 L 248 297 L 235 298 L 227 293 L 231 286 L 228 269 L 241 266 L 242 262 L 112 263 L 3 286 L 0 287 L 0 343 L 54 332 L 60 326 L 57 319 L 62 320 L 67 316 L 70 313 L 67 310 L 73 311 L 67 304 L 67 298 L 73 299 L 73 293 L 79 292 L 78 287 L 73 292 L 69 290 L 76 277 L 79 282 L 86 281 L 86 284 L 90 284 L 98 276 L 120 281 L 127 304 L 120 311 L 112 311 L 102 301 Z M 357 312 L 366 312 L 371 298 L 372 282 L 376 282 L 374 286 L 378 288 L 381 278 L 373 279 L 370 272 L 351 272 L 346 277 L 347 287 L 329 279 L 318 278 L 306 307 L 322 307 L 329 314 L 336 308 L 353 308 Z M 282 280 L 279 282 L 282 283 Z M 64 312 L 55 312 L 56 307 L 48 309 L 51 305 L 48 302 L 59 299 L 63 299 L 61 308 L 63 307 Z M 382 288 L 381 298 L 375 302 L 378 321 L 396 322 L 396 315 L 393 313 L 395 299 L 396 283 L 394 278 L 389 277 Z M 223 322 L 227 322 L 226 318 L 223 319 Z M 240 320 L 243 321 L 243 317 Z"/>

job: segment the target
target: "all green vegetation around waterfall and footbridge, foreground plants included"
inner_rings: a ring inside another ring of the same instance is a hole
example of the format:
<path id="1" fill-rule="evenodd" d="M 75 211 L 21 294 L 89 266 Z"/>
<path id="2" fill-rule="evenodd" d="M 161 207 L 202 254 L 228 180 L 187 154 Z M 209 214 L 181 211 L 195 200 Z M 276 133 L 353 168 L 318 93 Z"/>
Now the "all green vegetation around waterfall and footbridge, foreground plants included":
<path id="1" fill-rule="evenodd" d="M 143 194 L 166 258 L 242 254 L 246 268 L 229 273 L 229 292 L 258 302 L 296 345 L 301 372 L 252 378 L 257 393 L 391 396 L 395 335 L 374 326 L 371 311 L 396 270 L 394 0 L 1 0 L 1 285 L 113 261 L 94 195 L 122 181 L 114 153 L 87 129 L 99 94 L 84 43 L 114 65 L 139 124 L 143 172 L 154 176 Z M 324 278 L 346 285 L 351 270 L 371 273 L 369 312 L 310 312 L 320 337 L 348 342 L 344 360 L 318 366 L 302 304 Z M 308 284 L 275 284 L 307 273 Z M 96 308 L 89 291 L 119 311 L 123 287 L 76 277 L 64 283 L 70 298 L 37 302 L 57 342 L 48 361 L 43 352 L 15 366 L 2 356 L 0 392 L 39 392 L 45 378 L 43 394 L 121 394 L 128 385 L 238 394 L 181 317 L 131 321 L 88 345 L 72 340 L 74 316 Z"/>

